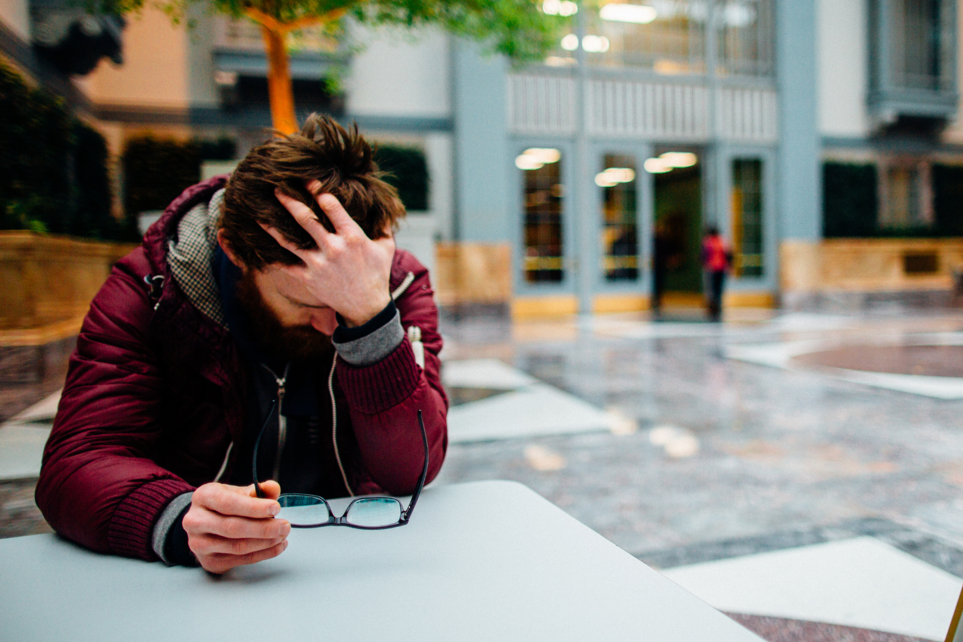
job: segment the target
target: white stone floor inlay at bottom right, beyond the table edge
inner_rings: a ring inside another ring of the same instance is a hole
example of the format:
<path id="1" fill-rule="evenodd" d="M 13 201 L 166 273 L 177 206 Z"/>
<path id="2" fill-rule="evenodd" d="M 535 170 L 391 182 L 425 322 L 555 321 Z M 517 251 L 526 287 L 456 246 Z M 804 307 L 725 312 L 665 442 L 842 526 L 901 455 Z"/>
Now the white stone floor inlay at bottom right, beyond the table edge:
<path id="1" fill-rule="evenodd" d="M 719 610 L 943 640 L 963 579 L 872 537 L 663 571 Z M 949 615 L 948 615 L 949 614 Z"/>

